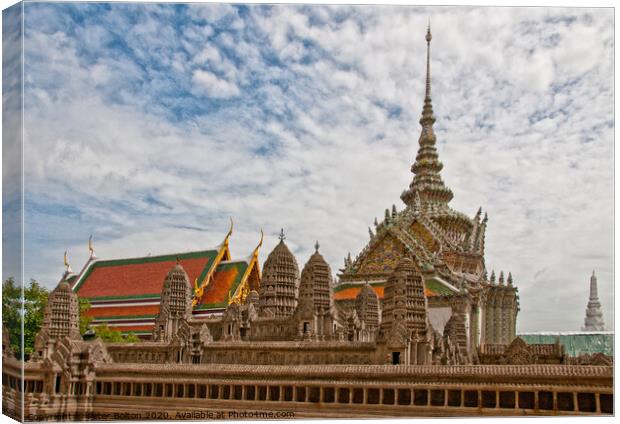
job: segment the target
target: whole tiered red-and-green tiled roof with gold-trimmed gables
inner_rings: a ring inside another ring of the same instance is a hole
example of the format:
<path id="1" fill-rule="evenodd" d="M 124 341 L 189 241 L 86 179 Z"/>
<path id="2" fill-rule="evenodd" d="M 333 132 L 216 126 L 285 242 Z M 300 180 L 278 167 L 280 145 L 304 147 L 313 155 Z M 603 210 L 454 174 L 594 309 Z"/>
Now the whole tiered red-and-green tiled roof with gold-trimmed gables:
<path id="1" fill-rule="evenodd" d="M 230 260 L 227 234 L 224 242 L 213 249 L 157 256 L 101 260 L 91 258 L 78 275 L 70 275 L 72 290 L 89 300 L 87 315 L 92 324 L 107 323 L 125 333 L 150 334 L 159 314 L 161 293 L 166 276 L 180 264 L 187 272 L 194 293 L 193 314 L 220 312 L 252 278 L 255 289 L 260 279 L 256 258 Z"/>

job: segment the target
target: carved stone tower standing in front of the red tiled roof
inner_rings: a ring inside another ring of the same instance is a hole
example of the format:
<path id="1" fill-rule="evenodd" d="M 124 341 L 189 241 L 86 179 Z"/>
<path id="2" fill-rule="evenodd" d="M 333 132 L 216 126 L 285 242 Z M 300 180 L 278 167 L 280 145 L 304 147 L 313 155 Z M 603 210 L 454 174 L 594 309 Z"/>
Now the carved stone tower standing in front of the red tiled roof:
<path id="1" fill-rule="evenodd" d="M 192 286 L 180 263 L 170 270 L 161 292 L 159 315 L 155 318 L 153 340 L 170 342 L 192 315 Z"/>

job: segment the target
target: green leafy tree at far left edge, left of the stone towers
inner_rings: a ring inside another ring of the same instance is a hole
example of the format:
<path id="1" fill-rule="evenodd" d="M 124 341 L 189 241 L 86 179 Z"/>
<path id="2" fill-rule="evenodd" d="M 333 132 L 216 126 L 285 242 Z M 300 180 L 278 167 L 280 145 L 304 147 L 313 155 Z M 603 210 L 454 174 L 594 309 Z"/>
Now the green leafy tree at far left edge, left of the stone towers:
<path id="1" fill-rule="evenodd" d="M 10 277 L 2 284 L 2 323 L 9 332 L 11 349 L 17 358 L 27 360 L 34 349 L 34 339 L 43 324 L 43 314 L 49 292 L 35 280 L 21 287 Z M 24 317 L 24 351 L 21 350 L 22 323 Z"/>

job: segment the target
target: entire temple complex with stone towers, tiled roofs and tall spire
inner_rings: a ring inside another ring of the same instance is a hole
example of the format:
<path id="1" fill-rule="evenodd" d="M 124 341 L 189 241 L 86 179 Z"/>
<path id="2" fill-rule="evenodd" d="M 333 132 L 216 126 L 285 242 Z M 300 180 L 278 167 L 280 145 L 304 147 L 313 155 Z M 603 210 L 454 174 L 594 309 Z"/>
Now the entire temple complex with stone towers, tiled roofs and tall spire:
<path id="1" fill-rule="evenodd" d="M 262 274 L 262 236 L 247 258 L 231 259 L 232 222 L 209 250 L 100 260 L 90 245 L 79 273 L 65 260 L 36 352 L 21 364 L 23 390 L 20 364 L 3 354 L 3 407 L 23 400 L 31 418 L 98 420 L 119 408 L 136 414 L 118 417 L 126 420 L 283 406 L 334 417 L 613 413 L 609 364 L 568 365 L 559 344 L 515 337 L 512 275 L 496 280 L 485 266 L 487 215 L 449 206 L 433 131 L 430 28 L 426 41 L 405 208 L 386 210 L 338 282 L 318 242 L 300 272 L 283 231 Z M 92 325 L 142 340 L 80 335 L 78 297 L 89 300 Z"/>

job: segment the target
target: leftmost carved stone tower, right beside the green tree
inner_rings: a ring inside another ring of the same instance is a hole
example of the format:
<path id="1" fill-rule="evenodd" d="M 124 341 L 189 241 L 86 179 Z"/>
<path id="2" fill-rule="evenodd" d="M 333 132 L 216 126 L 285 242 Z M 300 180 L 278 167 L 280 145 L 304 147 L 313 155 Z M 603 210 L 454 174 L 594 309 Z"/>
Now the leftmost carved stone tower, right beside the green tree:
<path id="1" fill-rule="evenodd" d="M 56 342 L 68 337 L 82 340 L 79 331 L 79 302 L 66 279 L 50 293 L 43 316 L 41 331 L 35 339 L 33 360 L 49 358 Z"/>

